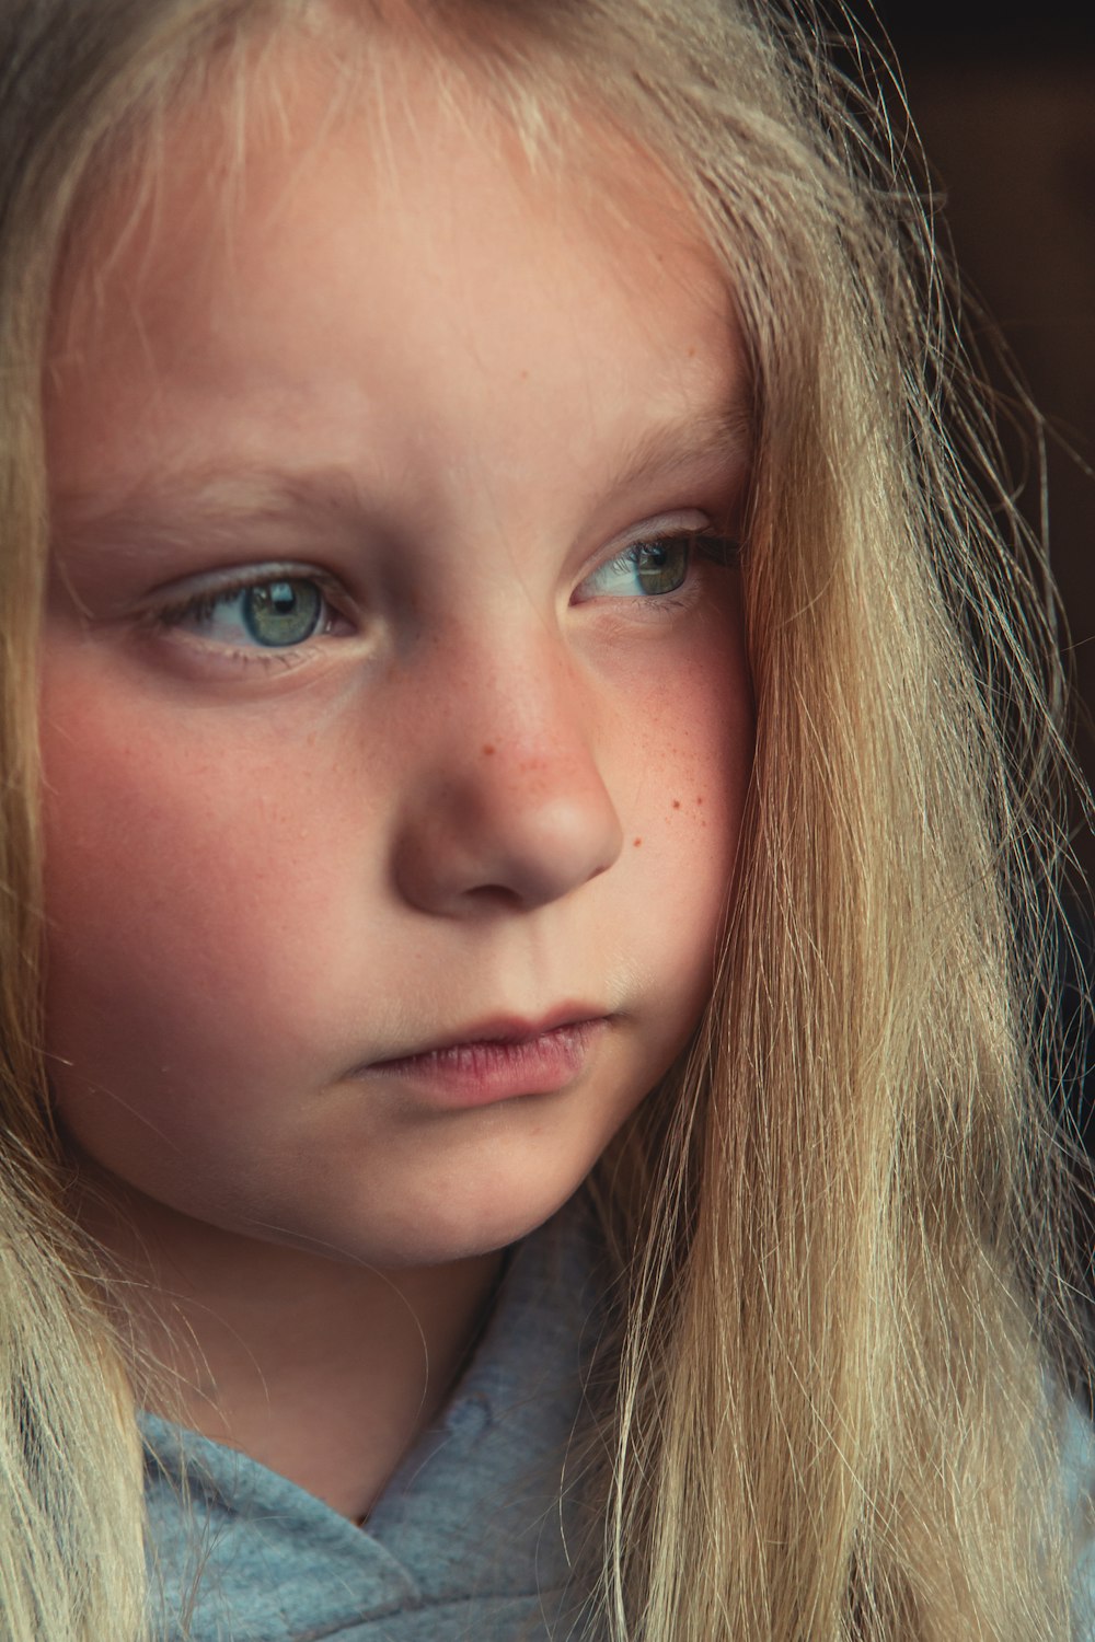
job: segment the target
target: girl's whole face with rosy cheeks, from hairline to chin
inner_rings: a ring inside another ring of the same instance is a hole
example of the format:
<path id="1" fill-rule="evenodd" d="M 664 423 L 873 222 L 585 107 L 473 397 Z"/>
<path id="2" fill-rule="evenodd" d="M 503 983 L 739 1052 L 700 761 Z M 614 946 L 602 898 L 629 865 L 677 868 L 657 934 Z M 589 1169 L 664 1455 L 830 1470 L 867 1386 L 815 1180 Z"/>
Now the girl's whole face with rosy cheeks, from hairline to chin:
<path id="1" fill-rule="evenodd" d="M 639 158 L 598 209 L 409 85 L 287 82 L 230 207 L 179 130 L 48 391 L 62 1125 L 378 1264 L 538 1225 L 685 1046 L 752 757 L 722 281 Z"/>

